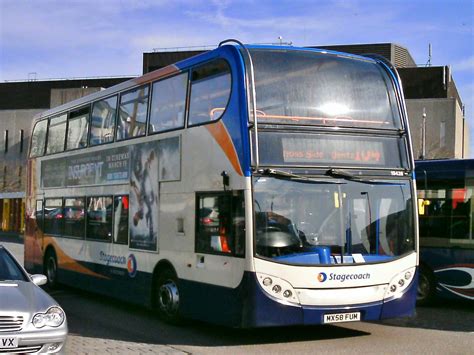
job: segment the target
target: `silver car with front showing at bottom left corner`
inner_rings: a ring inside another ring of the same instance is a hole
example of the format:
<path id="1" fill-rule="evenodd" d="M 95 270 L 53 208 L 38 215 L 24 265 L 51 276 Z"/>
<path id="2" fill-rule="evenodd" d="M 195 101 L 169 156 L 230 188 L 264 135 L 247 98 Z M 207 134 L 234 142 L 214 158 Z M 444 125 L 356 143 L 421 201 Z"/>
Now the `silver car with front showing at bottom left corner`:
<path id="1" fill-rule="evenodd" d="M 67 337 L 66 315 L 39 286 L 44 275 L 29 275 L 0 245 L 0 353 L 57 353 Z"/>

